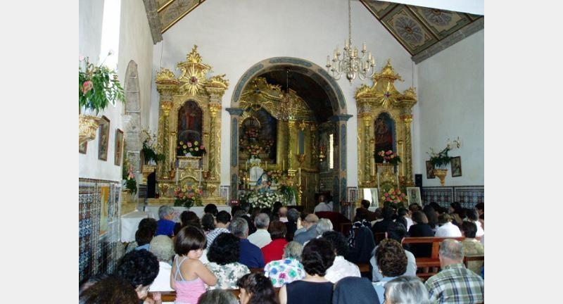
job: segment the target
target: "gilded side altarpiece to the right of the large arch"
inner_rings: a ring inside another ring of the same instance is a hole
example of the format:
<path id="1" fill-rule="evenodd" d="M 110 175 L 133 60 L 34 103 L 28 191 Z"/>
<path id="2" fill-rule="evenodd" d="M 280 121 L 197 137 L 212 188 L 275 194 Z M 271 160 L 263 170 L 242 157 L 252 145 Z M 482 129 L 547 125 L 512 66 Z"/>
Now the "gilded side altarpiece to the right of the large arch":
<path id="1" fill-rule="evenodd" d="M 400 93 L 395 87 L 397 80 L 403 81 L 388 60 L 381 72 L 374 75 L 371 87 L 363 84 L 356 91 L 360 188 L 386 184 L 405 191 L 414 184 L 411 122 L 417 95 L 414 87 Z M 393 127 L 388 127 L 390 125 Z M 377 138 L 381 141 L 379 144 Z M 375 163 L 374 153 L 384 148 L 398 153 L 402 162 L 397 167 Z"/>

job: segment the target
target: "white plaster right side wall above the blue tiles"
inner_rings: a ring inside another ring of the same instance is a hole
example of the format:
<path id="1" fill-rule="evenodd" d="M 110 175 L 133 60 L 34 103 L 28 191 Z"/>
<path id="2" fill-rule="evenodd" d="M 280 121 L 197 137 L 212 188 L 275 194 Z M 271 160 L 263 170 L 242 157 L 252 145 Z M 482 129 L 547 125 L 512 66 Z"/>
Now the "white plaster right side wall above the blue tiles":
<path id="1" fill-rule="evenodd" d="M 421 154 L 415 171 L 422 173 L 424 186 L 439 186 L 438 178 L 426 179 L 426 152 L 460 137 L 462 147 L 450 155 L 461 156 L 462 176 L 452 177 L 450 170 L 445 185 L 483 185 L 484 30 L 422 61 L 417 69 Z"/>

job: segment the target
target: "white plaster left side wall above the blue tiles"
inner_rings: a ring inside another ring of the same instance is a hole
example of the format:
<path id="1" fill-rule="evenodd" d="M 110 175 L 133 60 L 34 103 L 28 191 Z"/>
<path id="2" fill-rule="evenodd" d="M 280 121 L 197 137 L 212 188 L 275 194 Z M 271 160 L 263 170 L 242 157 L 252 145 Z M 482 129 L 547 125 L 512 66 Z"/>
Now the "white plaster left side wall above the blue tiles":
<path id="1" fill-rule="evenodd" d="M 101 5 L 100 5 L 101 3 Z M 127 63 L 134 60 L 139 65 L 139 85 L 141 87 L 141 117 L 148 125 L 151 94 L 152 38 L 142 1 L 122 0 L 120 22 L 120 46 L 118 59 L 118 79 L 125 83 Z M 79 52 L 80 55 L 97 58 L 100 52 L 101 28 L 103 20 L 103 1 L 80 0 L 79 10 Z M 105 54 L 103 55 L 105 57 Z M 122 113 L 124 105 L 109 106 L 100 112 L 110 120 L 108 141 L 108 160 L 98 159 L 98 137 L 88 142 L 86 154 L 78 154 L 78 177 L 121 180 L 121 167 L 114 165 L 115 129 L 123 129 Z M 89 113 L 95 115 L 95 113 Z"/>

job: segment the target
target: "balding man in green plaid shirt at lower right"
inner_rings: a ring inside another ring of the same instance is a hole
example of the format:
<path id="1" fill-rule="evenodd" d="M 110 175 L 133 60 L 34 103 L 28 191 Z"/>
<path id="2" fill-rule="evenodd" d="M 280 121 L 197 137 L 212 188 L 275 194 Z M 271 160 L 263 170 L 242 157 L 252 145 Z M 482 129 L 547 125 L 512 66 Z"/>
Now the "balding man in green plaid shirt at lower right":
<path id="1" fill-rule="evenodd" d="M 431 303 L 482 303 L 483 279 L 463 264 L 463 246 L 447 239 L 440 244 L 442 270 L 426 281 Z"/>

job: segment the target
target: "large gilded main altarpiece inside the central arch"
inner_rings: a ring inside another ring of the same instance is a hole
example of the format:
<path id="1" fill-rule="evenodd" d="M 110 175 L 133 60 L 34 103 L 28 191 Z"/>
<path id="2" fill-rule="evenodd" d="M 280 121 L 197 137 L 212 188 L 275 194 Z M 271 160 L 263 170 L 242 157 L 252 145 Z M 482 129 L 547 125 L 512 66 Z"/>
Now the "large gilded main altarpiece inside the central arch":
<path id="1" fill-rule="evenodd" d="M 241 93 L 239 108 L 229 108 L 233 122 L 238 123 L 237 162 L 232 170 L 238 173 L 239 190 L 251 189 L 248 160 L 251 153 L 246 146 L 248 132 L 258 127 L 260 145 L 271 141 L 272 151 L 262 151 L 256 158 L 265 171 L 279 170 L 286 179 L 286 184 L 296 186 L 298 201 L 305 208 L 314 206 L 313 197 L 320 185 L 319 179 L 319 128 L 314 113 L 308 104 L 289 89 L 281 91 L 276 84 L 267 83 L 264 77 L 256 77 Z M 234 127 L 234 126 L 233 126 Z M 233 138 L 234 140 L 234 138 Z M 233 177 L 235 178 L 235 177 Z M 312 209 L 312 208 L 311 208 Z"/>

